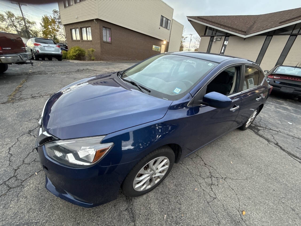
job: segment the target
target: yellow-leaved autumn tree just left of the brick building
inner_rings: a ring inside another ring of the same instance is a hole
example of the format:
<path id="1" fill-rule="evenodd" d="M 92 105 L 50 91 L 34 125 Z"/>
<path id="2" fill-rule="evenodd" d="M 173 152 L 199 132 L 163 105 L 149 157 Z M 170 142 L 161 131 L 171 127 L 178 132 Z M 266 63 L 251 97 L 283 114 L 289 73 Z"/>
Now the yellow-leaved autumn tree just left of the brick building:
<path id="1" fill-rule="evenodd" d="M 57 37 L 57 23 L 52 16 L 48 16 L 45 14 L 44 16 L 42 16 L 42 22 L 40 24 L 43 38 L 53 39 L 56 42 L 59 41 Z"/>

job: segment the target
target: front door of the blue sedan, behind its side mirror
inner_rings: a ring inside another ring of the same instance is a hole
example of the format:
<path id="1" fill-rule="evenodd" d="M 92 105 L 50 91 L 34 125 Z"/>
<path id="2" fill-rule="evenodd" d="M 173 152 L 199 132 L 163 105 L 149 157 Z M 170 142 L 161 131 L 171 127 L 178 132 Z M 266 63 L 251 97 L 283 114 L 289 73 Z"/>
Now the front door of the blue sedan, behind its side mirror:
<path id="1" fill-rule="evenodd" d="M 219 76 L 219 74 L 227 71 L 230 68 L 235 68 L 235 77 L 231 84 L 231 93 L 227 94 L 231 100 L 232 104 L 228 108 L 213 108 L 207 105 L 194 106 L 194 124 L 193 127 L 193 137 L 195 140 L 193 146 L 190 145 L 194 150 L 201 148 L 202 146 L 210 143 L 216 138 L 227 133 L 230 128 L 235 127 L 236 117 L 240 110 L 240 104 L 242 101 L 241 93 L 238 92 L 240 86 L 240 76 L 242 64 L 234 64 L 225 68 L 222 72 L 216 74 L 209 82 L 208 85 L 202 87 L 202 89 L 194 97 L 196 99 L 203 99 L 206 94 L 208 87 L 214 81 L 214 79 Z M 230 70 L 229 70 L 230 71 Z M 217 87 L 213 86 L 213 87 Z M 213 88 L 214 89 L 214 88 Z M 210 89 L 209 91 L 218 91 Z M 224 94 L 224 93 L 222 93 Z M 194 100 L 195 102 L 195 100 Z"/>

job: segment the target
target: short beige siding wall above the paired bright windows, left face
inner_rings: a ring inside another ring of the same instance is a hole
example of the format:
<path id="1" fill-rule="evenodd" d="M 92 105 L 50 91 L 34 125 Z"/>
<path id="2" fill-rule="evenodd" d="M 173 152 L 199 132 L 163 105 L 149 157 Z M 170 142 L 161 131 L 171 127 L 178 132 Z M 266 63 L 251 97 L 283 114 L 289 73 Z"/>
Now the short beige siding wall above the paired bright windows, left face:
<path id="1" fill-rule="evenodd" d="M 96 0 L 85 0 L 64 8 L 63 2 L 58 2 L 62 24 L 71 24 L 97 18 Z M 77 17 L 77 18 L 76 18 Z"/>

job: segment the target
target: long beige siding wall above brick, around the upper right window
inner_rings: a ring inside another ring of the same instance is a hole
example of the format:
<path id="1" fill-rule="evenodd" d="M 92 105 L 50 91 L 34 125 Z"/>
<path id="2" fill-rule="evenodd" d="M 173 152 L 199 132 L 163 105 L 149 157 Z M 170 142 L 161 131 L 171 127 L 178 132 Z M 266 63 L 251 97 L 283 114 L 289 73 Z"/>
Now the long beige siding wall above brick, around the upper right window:
<path id="1" fill-rule="evenodd" d="M 160 27 L 161 15 L 172 20 L 173 8 L 165 2 L 161 0 L 97 1 L 99 19 L 169 41 L 170 30 Z"/>

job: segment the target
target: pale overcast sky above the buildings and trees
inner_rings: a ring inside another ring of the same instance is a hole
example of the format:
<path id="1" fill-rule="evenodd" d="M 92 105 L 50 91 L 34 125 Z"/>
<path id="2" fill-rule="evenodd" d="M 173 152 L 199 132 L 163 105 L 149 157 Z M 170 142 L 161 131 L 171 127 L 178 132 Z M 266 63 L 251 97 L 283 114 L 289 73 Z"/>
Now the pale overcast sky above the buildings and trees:
<path id="1" fill-rule="evenodd" d="M 186 35 L 197 34 L 186 16 L 265 14 L 301 7 L 301 0 L 164 0 L 164 2 L 174 8 L 173 18 L 184 24 Z M 58 9 L 57 3 L 22 6 L 26 17 L 35 20 L 38 25 L 42 15 L 51 14 L 52 9 Z M 16 4 L 0 0 L 0 13 L 5 10 L 20 13 Z"/>

